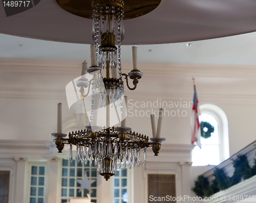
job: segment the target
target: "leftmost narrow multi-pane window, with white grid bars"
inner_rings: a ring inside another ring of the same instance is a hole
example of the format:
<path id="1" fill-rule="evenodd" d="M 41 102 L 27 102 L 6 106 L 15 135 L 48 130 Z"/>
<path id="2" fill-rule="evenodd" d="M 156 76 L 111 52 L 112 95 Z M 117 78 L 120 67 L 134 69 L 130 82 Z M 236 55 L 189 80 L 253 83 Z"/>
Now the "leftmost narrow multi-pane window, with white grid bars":
<path id="1" fill-rule="evenodd" d="M 29 203 L 45 203 L 46 166 L 32 165 L 30 173 Z"/>

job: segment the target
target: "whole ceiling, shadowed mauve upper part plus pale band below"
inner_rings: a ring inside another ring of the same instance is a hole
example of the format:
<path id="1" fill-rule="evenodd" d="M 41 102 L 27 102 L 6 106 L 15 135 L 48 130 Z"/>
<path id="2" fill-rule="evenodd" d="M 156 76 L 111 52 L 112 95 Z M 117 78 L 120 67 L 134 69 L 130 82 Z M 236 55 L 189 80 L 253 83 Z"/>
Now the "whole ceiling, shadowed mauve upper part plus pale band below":
<path id="1" fill-rule="evenodd" d="M 256 65 L 255 10 L 251 0 L 162 0 L 151 13 L 125 20 L 123 44 L 146 44 L 137 45 L 139 63 Z M 9 17 L 0 5 L 0 33 L 9 34 L 0 34 L 0 57 L 90 60 L 91 24 L 55 0 Z M 132 62 L 132 45 L 122 46 L 121 57 Z"/>

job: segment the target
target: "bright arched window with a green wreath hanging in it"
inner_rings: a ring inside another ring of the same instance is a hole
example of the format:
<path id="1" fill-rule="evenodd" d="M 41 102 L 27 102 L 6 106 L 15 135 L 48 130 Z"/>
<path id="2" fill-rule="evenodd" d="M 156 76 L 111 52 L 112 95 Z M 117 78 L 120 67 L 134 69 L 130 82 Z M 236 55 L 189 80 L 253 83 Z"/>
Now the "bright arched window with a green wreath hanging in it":
<path id="1" fill-rule="evenodd" d="M 196 146 L 192 151 L 193 166 L 218 165 L 229 158 L 228 122 L 224 111 L 216 105 L 205 104 L 199 107 L 199 121 L 214 126 L 210 138 L 201 137 L 201 149 Z"/>

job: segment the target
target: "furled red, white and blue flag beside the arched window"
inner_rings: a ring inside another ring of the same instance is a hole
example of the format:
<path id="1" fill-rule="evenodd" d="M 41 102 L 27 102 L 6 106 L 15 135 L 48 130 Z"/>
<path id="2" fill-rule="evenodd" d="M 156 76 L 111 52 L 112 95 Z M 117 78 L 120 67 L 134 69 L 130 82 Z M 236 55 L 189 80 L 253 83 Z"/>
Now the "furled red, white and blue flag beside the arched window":
<path id="1" fill-rule="evenodd" d="M 197 97 L 197 90 L 196 85 L 194 83 L 194 98 L 193 98 L 193 109 L 192 109 L 192 117 L 191 117 L 191 129 L 192 129 L 192 137 L 191 143 L 194 145 L 198 145 L 201 148 L 201 129 L 200 129 L 200 122 L 199 122 L 199 109 L 198 109 L 198 97 Z"/>

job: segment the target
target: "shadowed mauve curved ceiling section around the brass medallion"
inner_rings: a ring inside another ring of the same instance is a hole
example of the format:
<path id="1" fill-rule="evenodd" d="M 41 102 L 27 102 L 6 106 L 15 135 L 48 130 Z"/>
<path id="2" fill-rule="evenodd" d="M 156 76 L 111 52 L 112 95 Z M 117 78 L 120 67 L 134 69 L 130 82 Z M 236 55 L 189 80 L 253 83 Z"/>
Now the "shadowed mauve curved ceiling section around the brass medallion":
<path id="1" fill-rule="evenodd" d="M 123 44 L 195 41 L 253 32 L 255 10 L 252 0 L 162 0 L 152 12 L 125 20 Z M 9 17 L 0 6 L 0 33 L 91 44 L 91 27 L 91 19 L 63 10 L 55 0 L 40 1 Z"/>

